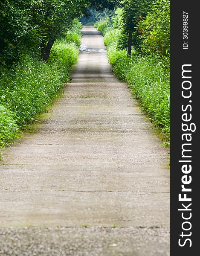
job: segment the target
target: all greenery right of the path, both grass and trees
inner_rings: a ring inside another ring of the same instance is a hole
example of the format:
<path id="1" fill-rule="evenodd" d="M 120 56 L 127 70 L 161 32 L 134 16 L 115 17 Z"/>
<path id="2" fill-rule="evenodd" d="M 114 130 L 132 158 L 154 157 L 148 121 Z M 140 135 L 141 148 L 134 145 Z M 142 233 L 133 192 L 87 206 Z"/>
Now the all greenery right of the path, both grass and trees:
<path id="1" fill-rule="evenodd" d="M 170 145 L 170 1 L 129 0 L 95 26 L 110 64 Z"/>

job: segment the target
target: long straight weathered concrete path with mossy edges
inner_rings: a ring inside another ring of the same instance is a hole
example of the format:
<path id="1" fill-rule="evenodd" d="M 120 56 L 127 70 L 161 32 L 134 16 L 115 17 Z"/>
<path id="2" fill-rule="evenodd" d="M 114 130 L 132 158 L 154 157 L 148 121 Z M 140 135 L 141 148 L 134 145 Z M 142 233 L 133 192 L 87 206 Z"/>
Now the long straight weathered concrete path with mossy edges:
<path id="1" fill-rule="evenodd" d="M 0 255 L 169 255 L 167 151 L 92 26 L 32 128 L 0 166 Z"/>

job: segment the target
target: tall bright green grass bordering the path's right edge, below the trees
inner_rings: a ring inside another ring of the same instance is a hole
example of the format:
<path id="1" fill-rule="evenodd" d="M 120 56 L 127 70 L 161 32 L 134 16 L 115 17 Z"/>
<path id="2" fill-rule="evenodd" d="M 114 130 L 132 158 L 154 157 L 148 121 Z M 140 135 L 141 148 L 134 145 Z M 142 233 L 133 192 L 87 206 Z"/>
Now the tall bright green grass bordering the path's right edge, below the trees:
<path id="1" fill-rule="evenodd" d="M 170 80 L 169 68 L 157 55 L 138 55 L 131 58 L 126 50 L 117 50 L 111 44 L 108 57 L 114 72 L 126 81 L 140 100 L 142 108 L 162 128 L 166 141 L 170 140 Z M 169 60 L 165 60 L 168 62 Z M 166 63 L 165 63 L 166 64 Z"/>

